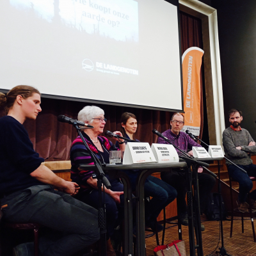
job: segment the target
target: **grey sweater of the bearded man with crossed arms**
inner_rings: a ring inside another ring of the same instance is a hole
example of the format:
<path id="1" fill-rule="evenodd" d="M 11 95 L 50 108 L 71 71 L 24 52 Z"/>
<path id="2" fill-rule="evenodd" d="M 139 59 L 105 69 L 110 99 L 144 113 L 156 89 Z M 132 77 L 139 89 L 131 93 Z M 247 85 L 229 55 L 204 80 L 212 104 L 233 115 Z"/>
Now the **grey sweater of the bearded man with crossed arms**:
<path id="1" fill-rule="evenodd" d="M 248 153 L 256 153 L 256 146 L 248 146 L 251 141 L 254 141 L 250 133 L 246 129 L 234 131 L 228 127 L 223 131 L 223 147 L 225 155 L 235 164 L 248 165 L 252 164 L 252 159 Z M 242 150 L 236 147 L 241 147 Z M 228 163 L 227 161 L 227 164 Z"/>

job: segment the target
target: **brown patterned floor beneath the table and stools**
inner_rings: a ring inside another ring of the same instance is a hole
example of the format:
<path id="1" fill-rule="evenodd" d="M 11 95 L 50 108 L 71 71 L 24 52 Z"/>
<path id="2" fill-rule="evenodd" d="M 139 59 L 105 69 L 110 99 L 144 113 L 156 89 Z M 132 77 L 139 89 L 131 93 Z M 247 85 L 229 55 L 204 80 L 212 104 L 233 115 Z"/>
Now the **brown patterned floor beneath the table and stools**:
<path id="1" fill-rule="evenodd" d="M 230 238 L 230 221 L 223 221 L 224 232 L 224 246 L 227 253 L 232 256 L 256 256 L 256 243 L 253 241 L 252 225 L 250 218 L 244 220 L 244 233 L 242 233 L 241 219 L 235 217 L 233 236 Z M 204 220 L 204 216 L 201 218 Z M 206 220 L 206 219 L 205 219 Z M 170 227 L 166 230 L 164 243 L 171 243 L 173 240 L 178 239 L 178 227 L 171 227 L 173 225 L 167 224 Z M 205 231 L 202 232 L 203 250 L 204 255 L 219 255 L 216 249 L 221 246 L 220 237 L 220 222 L 219 221 L 204 221 Z M 255 225 L 256 228 L 256 225 Z M 159 239 L 162 238 L 162 232 L 159 233 Z M 182 239 L 186 243 L 187 255 L 189 255 L 189 239 L 188 227 L 182 226 Z M 160 241 L 161 243 L 161 241 Z M 147 256 L 154 255 L 154 248 L 156 247 L 156 236 L 146 239 Z"/>

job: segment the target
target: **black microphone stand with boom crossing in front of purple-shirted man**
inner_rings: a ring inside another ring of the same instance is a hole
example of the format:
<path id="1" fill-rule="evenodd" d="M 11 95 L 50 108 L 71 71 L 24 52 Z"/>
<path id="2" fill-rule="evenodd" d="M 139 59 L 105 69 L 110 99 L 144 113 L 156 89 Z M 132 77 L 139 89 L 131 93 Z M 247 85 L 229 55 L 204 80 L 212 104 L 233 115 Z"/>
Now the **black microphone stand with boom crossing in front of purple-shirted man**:
<path id="1" fill-rule="evenodd" d="M 155 130 L 153 130 L 155 134 Z M 165 138 L 162 134 L 157 134 L 157 136 L 163 138 L 166 142 L 173 145 L 173 143 Z M 201 231 L 201 221 L 200 221 L 200 202 L 199 202 L 199 193 L 198 193 L 198 167 L 199 166 L 209 166 L 209 164 L 196 161 L 194 158 L 189 156 L 183 150 L 180 150 L 179 147 L 173 145 L 177 150 L 179 150 L 183 156 L 180 156 L 181 159 L 184 159 L 188 165 L 188 169 L 186 172 L 186 180 L 187 180 L 187 198 L 188 198 L 188 222 L 189 222 L 189 251 L 190 255 L 196 255 L 195 249 L 197 249 L 197 255 L 203 256 L 203 246 L 202 246 L 202 231 Z M 191 166 L 193 170 L 193 180 L 194 180 L 194 196 L 193 196 L 193 189 L 192 189 L 192 173 L 191 173 Z M 214 177 L 217 177 L 215 173 L 212 173 L 210 170 L 206 168 L 206 170 Z M 193 200 L 195 199 L 195 202 Z M 193 207 L 194 205 L 194 207 Z M 194 226 L 194 218 L 193 218 L 193 208 L 195 209 L 195 226 Z M 196 245 L 195 245 L 195 235 L 194 235 L 194 227 L 195 227 L 195 234 L 196 234 Z"/>

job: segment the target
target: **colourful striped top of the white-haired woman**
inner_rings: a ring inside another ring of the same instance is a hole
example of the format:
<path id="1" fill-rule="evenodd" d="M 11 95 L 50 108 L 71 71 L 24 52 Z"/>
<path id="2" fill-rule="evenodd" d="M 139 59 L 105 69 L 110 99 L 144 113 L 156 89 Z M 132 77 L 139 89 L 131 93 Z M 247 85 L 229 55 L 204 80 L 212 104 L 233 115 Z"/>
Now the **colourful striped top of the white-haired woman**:
<path id="1" fill-rule="evenodd" d="M 82 132 L 84 140 L 88 144 L 88 147 L 92 152 L 99 158 L 100 162 L 102 162 L 102 156 L 97 150 L 97 147 L 93 144 L 90 137 Z M 98 136 L 98 140 L 102 145 L 102 148 L 105 148 L 107 152 L 111 150 L 119 150 L 118 148 L 113 145 L 111 141 L 103 136 Z M 83 141 L 81 140 L 80 136 L 73 141 L 72 147 L 70 150 L 70 160 L 71 160 L 71 179 L 73 182 L 76 182 L 80 186 L 81 191 L 91 191 L 92 187 L 87 184 L 87 180 L 92 177 L 94 171 L 90 170 L 78 170 L 80 164 L 94 164 L 92 161 L 92 157 L 90 156 L 88 150 L 84 146 Z"/>

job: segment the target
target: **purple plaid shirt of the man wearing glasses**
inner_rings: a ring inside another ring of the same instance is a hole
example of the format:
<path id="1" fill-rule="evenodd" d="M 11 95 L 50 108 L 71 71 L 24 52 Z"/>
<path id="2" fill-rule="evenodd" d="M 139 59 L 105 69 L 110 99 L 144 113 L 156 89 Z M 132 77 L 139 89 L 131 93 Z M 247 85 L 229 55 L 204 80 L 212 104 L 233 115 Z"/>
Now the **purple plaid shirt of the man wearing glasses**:
<path id="1" fill-rule="evenodd" d="M 189 152 L 192 150 L 192 147 L 202 147 L 200 144 L 196 143 L 194 140 L 192 140 L 186 132 L 180 132 L 179 135 L 174 134 L 170 129 L 163 132 L 163 136 L 168 138 L 173 145 L 180 148 L 181 150 L 185 152 Z M 162 138 L 158 137 L 157 143 L 160 144 L 169 144 L 167 141 L 163 140 Z M 182 156 L 182 153 L 175 148 L 178 155 Z"/>

